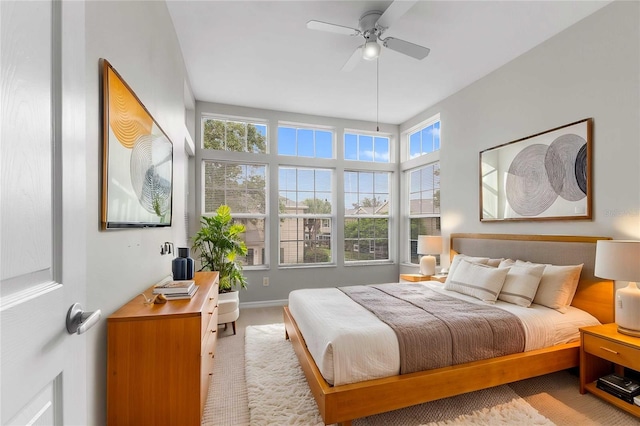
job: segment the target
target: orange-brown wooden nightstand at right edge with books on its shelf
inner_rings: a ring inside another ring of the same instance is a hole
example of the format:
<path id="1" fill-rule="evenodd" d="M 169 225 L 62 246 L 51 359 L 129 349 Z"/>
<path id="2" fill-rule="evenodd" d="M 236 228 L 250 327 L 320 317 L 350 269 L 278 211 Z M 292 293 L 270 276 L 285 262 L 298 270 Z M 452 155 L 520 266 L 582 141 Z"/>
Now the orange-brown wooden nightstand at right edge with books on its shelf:
<path id="1" fill-rule="evenodd" d="M 623 375 L 624 368 L 640 371 L 640 338 L 618 333 L 616 324 L 580 329 L 580 393 L 590 392 L 622 410 L 640 417 L 640 407 L 596 387 L 599 377 Z"/>

